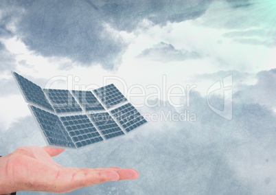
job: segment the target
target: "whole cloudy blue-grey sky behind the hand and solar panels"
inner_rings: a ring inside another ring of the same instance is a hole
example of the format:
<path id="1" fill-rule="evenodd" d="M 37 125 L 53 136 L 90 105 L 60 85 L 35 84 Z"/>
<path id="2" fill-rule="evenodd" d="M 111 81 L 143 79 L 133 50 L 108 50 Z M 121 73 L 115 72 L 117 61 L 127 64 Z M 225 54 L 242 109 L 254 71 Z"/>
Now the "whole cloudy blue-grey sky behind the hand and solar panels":
<path id="1" fill-rule="evenodd" d="M 114 83 L 149 123 L 55 160 L 141 176 L 68 194 L 275 194 L 275 54 L 274 0 L 1 1 L 1 154 L 45 145 L 10 71 Z"/>

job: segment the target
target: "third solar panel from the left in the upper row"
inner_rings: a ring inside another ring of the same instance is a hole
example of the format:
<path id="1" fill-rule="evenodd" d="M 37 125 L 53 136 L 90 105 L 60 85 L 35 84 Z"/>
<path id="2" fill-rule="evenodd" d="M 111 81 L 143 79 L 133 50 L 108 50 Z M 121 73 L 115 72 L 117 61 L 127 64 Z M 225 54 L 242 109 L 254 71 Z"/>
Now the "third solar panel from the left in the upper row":
<path id="1" fill-rule="evenodd" d="M 85 111 L 104 111 L 104 106 L 97 101 L 91 91 L 72 91 L 75 98 L 80 102 Z"/>

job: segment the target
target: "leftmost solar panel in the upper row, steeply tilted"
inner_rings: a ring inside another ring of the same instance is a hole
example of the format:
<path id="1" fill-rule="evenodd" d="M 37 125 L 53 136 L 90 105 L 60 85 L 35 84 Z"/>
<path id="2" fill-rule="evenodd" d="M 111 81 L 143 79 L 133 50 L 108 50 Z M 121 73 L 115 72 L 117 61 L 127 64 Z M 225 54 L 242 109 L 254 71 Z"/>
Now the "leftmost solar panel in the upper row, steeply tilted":
<path id="1" fill-rule="evenodd" d="M 25 100 L 27 102 L 36 104 L 38 106 L 42 106 L 43 108 L 46 108 L 49 111 L 54 111 L 54 109 L 51 107 L 51 104 L 49 104 L 47 98 L 45 97 L 45 94 L 43 93 L 41 87 L 34 84 L 30 80 L 27 80 L 23 76 L 20 76 L 16 72 L 14 72 L 14 76 L 17 82 L 19 83 L 19 86 L 23 91 L 25 95 Z"/>

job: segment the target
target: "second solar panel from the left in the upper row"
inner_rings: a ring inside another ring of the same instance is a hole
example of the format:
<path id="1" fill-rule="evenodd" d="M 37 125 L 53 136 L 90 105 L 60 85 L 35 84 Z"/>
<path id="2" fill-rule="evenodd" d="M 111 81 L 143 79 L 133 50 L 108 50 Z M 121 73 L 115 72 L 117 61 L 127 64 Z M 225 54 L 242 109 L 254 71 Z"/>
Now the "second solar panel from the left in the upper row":
<path id="1" fill-rule="evenodd" d="M 56 113 L 80 113 L 82 111 L 70 91 L 62 89 L 44 89 L 44 91 Z"/>

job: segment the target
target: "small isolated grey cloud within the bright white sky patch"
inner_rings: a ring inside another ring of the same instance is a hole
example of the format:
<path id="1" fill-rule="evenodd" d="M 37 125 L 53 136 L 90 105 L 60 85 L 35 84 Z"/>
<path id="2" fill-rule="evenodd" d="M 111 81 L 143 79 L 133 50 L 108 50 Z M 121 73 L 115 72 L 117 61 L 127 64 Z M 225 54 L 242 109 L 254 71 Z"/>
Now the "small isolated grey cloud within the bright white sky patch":
<path id="1" fill-rule="evenodd" d="M 196 51 L 186 51 L 185 49 L 175 49 L 172 44 L 160 42 L 150 49 L 145 49 L 137 56 L 148 60 L 163 62 L 182 61 L 186 59 L 202 58 Z"/>

